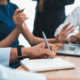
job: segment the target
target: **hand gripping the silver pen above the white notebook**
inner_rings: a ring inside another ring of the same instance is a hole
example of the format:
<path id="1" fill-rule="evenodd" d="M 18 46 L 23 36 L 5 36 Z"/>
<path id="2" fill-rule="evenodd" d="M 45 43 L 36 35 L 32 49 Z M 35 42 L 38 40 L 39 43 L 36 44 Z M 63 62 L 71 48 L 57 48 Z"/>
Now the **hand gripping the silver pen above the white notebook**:
<path id="1" fill-rule="evenodd" d="M 53 57 L 56 54 L 56 46 L 53 44 L 49 44 L 51 51 L 49 49 L 47 49 L 47 46 L 45 43 L 41 43 L 37 46 L 31 47 L 29 50 L 29 55 L 28 57 L 30 59 L 34 59 L 34 58 L 40 58 L 41 56 L 51 56 L 53 55 Z"/>

